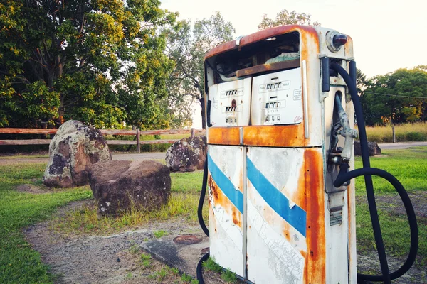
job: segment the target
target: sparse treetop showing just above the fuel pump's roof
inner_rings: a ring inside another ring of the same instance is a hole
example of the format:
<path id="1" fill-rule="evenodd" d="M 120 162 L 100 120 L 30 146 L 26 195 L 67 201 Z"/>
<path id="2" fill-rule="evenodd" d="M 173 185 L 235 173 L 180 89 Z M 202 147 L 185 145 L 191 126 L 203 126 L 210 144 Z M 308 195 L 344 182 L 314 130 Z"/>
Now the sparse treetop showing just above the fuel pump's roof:
<path id="1" fill-rule="evenodd" d="M 267 14 L 264 14 L 263 21 L 258 25 L 258 31 L 283 25 L 320 26 L 320 23 L 318 21 L 312 23 L 310 14 L 297 13 L 296 11 L 289 12 L 283 9 L 276 15 L 275 20 L 268 18 Z"/>

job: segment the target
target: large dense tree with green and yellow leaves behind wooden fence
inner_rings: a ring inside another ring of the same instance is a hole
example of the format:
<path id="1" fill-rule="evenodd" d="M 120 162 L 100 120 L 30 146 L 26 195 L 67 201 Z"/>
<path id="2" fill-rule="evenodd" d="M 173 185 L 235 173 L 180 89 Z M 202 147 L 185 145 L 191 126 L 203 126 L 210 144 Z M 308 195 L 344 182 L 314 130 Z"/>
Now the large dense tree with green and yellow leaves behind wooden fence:
<path id="1" fill-rule="evenodd" d="M 157 103 L 173 62 L 159 0 L 5 0 L 0 4 L 0 126 L 79 119 L 167 126 Z"/>

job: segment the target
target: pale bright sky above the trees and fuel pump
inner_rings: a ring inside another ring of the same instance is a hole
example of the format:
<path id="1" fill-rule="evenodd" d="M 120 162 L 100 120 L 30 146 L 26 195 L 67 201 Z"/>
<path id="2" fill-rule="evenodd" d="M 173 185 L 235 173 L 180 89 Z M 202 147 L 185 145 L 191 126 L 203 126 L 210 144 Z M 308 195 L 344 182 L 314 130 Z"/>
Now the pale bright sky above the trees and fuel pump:
<path id="1" fill-rule="evenodd" d="M 236 36 L 257 31 L 263 14 L 283 9 L 309 13 L 312 21 L 353 38 L 354 58 L 368 77 L 400 67 L 427 65 L 427 2 L 423 0 L 161 0 L 181 19 L 209 18 L 220 11 Z"/>

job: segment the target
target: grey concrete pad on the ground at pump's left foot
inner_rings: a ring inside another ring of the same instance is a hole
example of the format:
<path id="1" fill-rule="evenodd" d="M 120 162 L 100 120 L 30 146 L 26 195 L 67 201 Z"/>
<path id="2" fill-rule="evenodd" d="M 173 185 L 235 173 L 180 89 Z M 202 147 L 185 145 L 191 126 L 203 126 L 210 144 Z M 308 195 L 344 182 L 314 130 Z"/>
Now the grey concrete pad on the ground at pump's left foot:
<path id="1" fill-rule="evenodd" d="M 161 239 L 144 242 L 142 249 L 157 261 L 178 268 L 181 273 L 196 277 L 197 263 L 204 255 L 201 250 L 209 247 L 209 238 L 197 234 L 196 236 L 202 237 L 202 241 L 198 244 L 176 244 L 173 241 L 176 236 L 178 235 L 163 236 Z"/>

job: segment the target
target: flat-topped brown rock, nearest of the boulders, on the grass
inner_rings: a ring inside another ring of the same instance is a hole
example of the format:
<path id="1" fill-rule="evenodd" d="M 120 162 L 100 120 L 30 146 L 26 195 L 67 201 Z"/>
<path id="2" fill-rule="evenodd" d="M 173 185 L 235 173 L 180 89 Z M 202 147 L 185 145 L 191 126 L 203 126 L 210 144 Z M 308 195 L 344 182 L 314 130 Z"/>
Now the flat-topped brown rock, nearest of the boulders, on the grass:
<path id="1" fill-rule="evenodd" d="M 153 160 L 99 162 L 89 178 L 102 215 L 114 216 L 132 207 L 159 208 L 171 195 L 169 168 Z"/>

